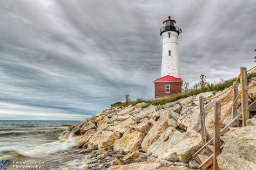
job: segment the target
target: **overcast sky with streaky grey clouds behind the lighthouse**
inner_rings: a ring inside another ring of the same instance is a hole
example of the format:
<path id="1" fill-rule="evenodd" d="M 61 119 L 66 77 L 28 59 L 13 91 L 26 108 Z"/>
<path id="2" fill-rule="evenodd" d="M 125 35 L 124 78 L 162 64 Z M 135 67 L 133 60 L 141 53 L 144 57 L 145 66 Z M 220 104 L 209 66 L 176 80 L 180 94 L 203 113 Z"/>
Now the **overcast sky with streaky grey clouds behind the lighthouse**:
<path id="1" fill-rule="evenodd" d="M 153 98 L 169 13 L 184 82 L 234 77 L 254 65 L 255 11 L 255 0 L 0 0 L 0 119 L 84 119 L 125 94 Z"/>

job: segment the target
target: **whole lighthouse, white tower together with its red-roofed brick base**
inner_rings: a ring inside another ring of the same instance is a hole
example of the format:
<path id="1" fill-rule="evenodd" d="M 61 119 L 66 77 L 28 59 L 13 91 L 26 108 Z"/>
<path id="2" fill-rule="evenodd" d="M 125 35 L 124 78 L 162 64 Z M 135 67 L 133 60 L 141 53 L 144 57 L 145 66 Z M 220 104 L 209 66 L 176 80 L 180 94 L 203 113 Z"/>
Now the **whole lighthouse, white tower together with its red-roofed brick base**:
<path id="1" fill-rule="evenodd" d="M 160 29 L 160 36 L 163 40 L 161 77 L 153 81 L 155 98 L 164 98 L 181 93 L 183 82 L 178 57 L 178 38 L 181 29 L 170 15 L 163 24 Z"/>

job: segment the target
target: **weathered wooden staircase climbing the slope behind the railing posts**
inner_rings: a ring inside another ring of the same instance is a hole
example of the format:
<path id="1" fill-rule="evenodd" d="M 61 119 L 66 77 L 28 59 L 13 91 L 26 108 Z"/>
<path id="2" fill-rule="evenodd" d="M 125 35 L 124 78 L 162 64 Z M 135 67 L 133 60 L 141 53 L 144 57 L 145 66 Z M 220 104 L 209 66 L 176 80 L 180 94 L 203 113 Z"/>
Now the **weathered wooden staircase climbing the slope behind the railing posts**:
<path id="1" fill-rule="evenodd" d="M 256 117 L 256 100 L 248 107 L 250 111 L 250 118 Z M 237 115 L 230 123 L 228 123 L 225 128 L 220 131 L 220 150 L 224 147 L 224 141 L 221 140 L 221 137 L 227 133 L 232 127 L 240 127 L 242 125 L 241 121 L 242 114 Z M 200 169 L 213 169 L 213 138 L 210 139 L 204 146 L 202 146 L 196 153 L 193 155 L 193 160 L 199 162 Z"/>

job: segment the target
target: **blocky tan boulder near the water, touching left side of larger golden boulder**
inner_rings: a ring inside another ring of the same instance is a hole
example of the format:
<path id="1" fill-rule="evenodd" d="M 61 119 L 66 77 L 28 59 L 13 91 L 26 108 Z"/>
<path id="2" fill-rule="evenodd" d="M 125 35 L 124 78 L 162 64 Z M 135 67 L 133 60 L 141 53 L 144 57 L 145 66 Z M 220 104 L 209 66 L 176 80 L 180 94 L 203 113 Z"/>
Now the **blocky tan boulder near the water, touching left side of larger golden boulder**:
<path id="1" fill-rule="evenodd" d="M 112 150 L 114 142 L 120 138 L 120 133 L 112 131 L 103 131 L 100 138 L 99 150 Z"/>

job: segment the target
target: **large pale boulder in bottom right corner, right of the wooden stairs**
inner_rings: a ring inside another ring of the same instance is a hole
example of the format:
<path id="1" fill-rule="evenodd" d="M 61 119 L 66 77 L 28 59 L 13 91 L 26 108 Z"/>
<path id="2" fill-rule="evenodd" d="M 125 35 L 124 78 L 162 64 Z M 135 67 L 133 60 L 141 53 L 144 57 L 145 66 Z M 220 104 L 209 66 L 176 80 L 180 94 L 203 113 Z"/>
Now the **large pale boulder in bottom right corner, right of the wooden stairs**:
<path id="1" fill-rule="evenodd" d="M 232 128 L 224 136 L 225 145 L 217 157 L 220 169 L 256 169 L 256 126 Z"/>

